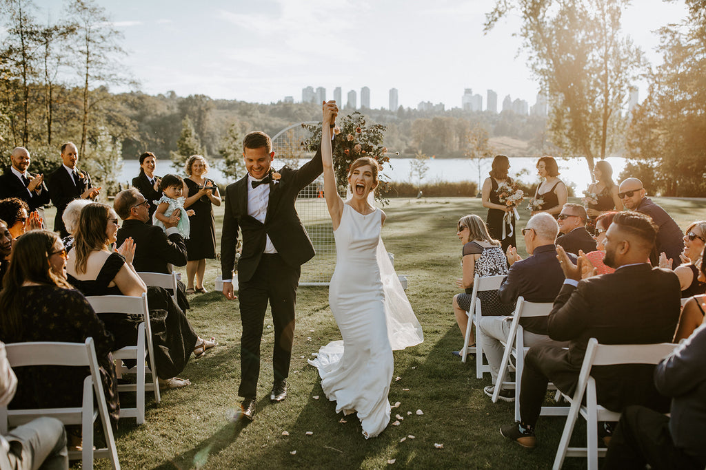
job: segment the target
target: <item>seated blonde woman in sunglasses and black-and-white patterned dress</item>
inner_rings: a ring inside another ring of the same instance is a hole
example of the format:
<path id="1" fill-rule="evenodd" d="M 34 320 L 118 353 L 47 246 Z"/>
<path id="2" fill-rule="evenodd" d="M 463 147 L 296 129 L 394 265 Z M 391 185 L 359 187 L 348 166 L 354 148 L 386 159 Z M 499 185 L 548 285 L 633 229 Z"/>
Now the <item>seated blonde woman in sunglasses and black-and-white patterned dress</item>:
<path id="1" fill-rule="evenodd" d="M 461 335 L 465 337 L 468 326 L 468 316 L 466 311 L 475 308 L 471 307 L 471 297 L 473 294 L 473 280 L 476 275 L 486 278 L 489 276 L 501 276 L 508 273 L 508 261 L 498 240 L 493 240 L 488 233 L 486 224 L 479 216 L 472 214 L 460 218 L 458 221 L 458 231 L 456 235 L 463 244 L 463 258 L 461 268 L 463 277 L 456 280 L 456 286 L 465 289 L 465 294 L 453 296 L 453 312 L 456 315 L 456 323 L 461 329 Z M 498 299 L 498 292 L 487 290 L 478 292 L 481 300 L 483 316 L 507 315 L 512 311 L 512 305 L 503 305 Z M 471 341 L 473 342 L 473 333 Z M 472 343 L 475 346 L 475 342 Z M 460 356 L 460 351 L 453 354 Z"/>

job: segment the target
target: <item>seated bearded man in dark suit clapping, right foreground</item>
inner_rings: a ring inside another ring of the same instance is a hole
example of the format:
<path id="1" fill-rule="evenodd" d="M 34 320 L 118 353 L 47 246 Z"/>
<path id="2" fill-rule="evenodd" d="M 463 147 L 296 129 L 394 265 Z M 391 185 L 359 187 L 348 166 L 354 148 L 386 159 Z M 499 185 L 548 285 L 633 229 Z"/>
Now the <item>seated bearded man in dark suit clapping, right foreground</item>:
<path id="1" fill-rule="evenodd" d="M 573 394 L 590 338 L 607 345 L 671 342 L 679 318 L 681 288 L 673 271 L 652 268 L 647 256 L 654 247 L 657 225 L 636 212 L 616 214 L 604 242 L 611 274 L 582 280 L 582 259 L 574 265 L 563 249 L 558 258 L 566 280 L 554 301 L 547 328 L 549 337 L 570 341 L 568 350 L 532 347 L 525 357 L 520 392 L 522 421 L 503 426 L 501 434 L 524 447 L 534 447 L 537 423 L 547 383 Z M 602 366 L 591 371 L 597 401 L 622 411 L 630 404 L 666 407 L 654 388 L 654 366 L 646 364 Z M 666 410 L 665 410 L 666 411 Z"/>

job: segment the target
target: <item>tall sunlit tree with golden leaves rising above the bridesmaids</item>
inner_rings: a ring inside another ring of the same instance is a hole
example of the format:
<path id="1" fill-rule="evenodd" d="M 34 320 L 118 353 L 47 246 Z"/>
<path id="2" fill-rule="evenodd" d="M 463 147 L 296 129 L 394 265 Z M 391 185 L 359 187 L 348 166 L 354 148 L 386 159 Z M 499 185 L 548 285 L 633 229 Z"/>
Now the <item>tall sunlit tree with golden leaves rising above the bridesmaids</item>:
<path id="1" fill-rule="evenodd" d="M 642 53 L 621 32 L 629 0 L 498 0 L 486 32 L 510 12 L 530 67 L 549 97 L 551 140 L 567 155 L 595 159 L 619 147 L 628 88 Z"/>

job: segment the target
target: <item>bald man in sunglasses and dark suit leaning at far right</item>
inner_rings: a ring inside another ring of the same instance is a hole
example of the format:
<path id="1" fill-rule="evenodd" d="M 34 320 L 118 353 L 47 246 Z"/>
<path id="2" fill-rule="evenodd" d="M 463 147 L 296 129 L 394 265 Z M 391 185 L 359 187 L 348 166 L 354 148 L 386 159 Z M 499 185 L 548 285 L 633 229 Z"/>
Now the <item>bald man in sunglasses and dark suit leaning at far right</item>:
<path id="1" fill-rule="evenodd" d="M 674 218 L 671 218 L 662 207 L 654 204 L 652 199 L 645 197 L 645 194 L 645 187 L 642 186 L 642 181 L 638 178 L 624 180 L 618 189 L 618 197 L 626 209 L 647 214 L 659 227 L 657 242 L 655 242 L 654 250 L 650 254 L 652 266 L 658 266 L 659 254 L 664 252 L 666 257 L 671 260 L 671 267 L 674 269 L 681 262 L 679 254 L 684 247 L 684 234 Z"/>

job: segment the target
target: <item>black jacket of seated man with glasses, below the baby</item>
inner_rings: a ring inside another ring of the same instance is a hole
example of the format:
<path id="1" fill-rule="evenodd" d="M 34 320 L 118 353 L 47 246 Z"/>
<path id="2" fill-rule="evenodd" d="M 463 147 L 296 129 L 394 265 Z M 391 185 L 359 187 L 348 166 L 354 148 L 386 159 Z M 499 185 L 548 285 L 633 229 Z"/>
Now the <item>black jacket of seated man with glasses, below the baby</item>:
<path id="1" fill-rule="evenodd" d="M 167 264 L 186 265 L 186 243 L 179 233 L 167 237 L 164 230 L 155 225 L 128 220 L 118 229 L 116 245 L 122 245 L 127 237 L 132 237 L 136 245 L 133 258 L 136 271 L 169 274 Z"/>

